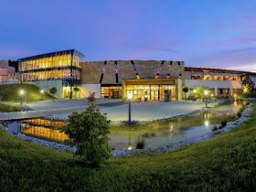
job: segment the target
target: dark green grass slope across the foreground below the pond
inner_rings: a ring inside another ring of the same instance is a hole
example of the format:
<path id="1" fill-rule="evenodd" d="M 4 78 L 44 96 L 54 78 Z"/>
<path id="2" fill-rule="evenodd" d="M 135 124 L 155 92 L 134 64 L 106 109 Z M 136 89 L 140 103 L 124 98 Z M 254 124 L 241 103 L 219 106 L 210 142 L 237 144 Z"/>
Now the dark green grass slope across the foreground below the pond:
<path id="1" fill-rule="evenodd" d="M 254 191 L 256 119 L 205 143 L 98 169 L 0 131 L 0 173 L 0 191 Z"/>

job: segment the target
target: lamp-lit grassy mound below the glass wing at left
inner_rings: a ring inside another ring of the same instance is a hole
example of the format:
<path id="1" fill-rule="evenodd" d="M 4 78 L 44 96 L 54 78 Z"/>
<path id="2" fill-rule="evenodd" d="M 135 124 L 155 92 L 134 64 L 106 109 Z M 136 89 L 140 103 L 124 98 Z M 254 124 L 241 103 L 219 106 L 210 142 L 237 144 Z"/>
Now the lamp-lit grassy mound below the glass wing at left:
<path id="1" fill-rule="evenodd" d="M 11 101 L 11 102 L 20 102 L 21 96 L 19 92 L 24 90 L 26 95 L 24 96 L 24 102 L 34 102 L 41 99 L 40 89 L 32 84 L 6 84 L 0 85 L 0 101 Z M 54 97 L 44 93 L 44 100 L 51 100 Z"/>

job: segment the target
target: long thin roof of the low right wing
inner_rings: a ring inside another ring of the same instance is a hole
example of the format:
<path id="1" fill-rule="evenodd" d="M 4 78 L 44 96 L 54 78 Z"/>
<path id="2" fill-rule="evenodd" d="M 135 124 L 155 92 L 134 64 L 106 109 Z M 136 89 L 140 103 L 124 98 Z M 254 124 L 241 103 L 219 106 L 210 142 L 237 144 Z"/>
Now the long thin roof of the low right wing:
<path id="1" fill-rule="evenodd" d="M 256 72 L 242 71 L 242 70 L 232 70 L 232 69 L 212 69 L 212 68 L 185 67 L 185 71 L 205 71 L 205 72 L 219 72 L 219 73 L 233 73 L 233 74 L 246 73 L 246 74 L 249 74 L 249 75 L 256 75 Z"/>

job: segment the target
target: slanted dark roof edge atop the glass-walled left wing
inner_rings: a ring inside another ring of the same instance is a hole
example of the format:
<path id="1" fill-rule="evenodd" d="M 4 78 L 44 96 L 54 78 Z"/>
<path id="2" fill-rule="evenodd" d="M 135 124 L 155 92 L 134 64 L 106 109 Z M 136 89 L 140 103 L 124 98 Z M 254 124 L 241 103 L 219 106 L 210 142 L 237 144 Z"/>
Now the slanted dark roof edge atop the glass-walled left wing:
<path id="1" fill-rule="evenodd" d="M 61 50 L 61 51 L 39 54 L 39 55 L 36 55 L 36 56 L 31 56 L 31 57 L 17 59 L 17 60 L 18 61 L 24 61 L 24 60 L 31 60 L 31 59 L 42 59 L 42 58 L 52 57 L 52 56 L 55 56 L 55 55 L 66 55 L 66 54 L 75 54 L 75 55 L 79 55 L 82 58 L 84 57 L 84 55 L 82 53 L 80 53 L 78 50 L 68 49 L 68 50 Z"/>

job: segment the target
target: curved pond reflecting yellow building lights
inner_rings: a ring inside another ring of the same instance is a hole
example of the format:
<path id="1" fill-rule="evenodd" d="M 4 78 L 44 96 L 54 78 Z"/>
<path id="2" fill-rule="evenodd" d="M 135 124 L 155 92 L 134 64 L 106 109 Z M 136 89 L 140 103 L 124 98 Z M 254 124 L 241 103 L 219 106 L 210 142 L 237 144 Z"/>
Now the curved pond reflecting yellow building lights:
<path id="1" fill-rule="evenodd" d="M 233 102 L 209 109 L 208 112 L 176 118 L 162 122 L 145 123 L 133 126 L 111 125 L 110 146 L 112 149 L 135 148 L 138 140 L 144 139 L 144 147 L 157 147 L 175 144 L 197 138 L 212 132 L 212 128 L 221 121 L 236 120 L 243 102 Z M 46 119 L 27 119 L 5 122 L 5 126 L 17 132 L 40 139 L 63 143 L 68 136 L 60 133 L 64 122 Z"/>

